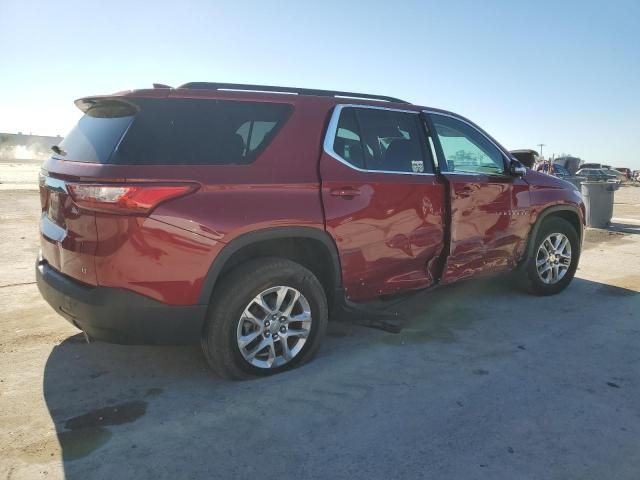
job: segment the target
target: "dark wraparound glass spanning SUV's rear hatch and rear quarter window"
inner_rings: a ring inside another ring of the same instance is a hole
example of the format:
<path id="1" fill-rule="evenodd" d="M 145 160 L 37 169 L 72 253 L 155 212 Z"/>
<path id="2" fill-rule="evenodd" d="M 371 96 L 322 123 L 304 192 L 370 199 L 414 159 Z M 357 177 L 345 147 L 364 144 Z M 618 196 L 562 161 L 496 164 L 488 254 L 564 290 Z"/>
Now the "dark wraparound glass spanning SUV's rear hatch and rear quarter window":
<path id="1" fill-rule="evenodd" d="M 192 99 L 100 99 L 55 157 L 116 165 L 253 162 L 287 120 L 288 104 Z"/>

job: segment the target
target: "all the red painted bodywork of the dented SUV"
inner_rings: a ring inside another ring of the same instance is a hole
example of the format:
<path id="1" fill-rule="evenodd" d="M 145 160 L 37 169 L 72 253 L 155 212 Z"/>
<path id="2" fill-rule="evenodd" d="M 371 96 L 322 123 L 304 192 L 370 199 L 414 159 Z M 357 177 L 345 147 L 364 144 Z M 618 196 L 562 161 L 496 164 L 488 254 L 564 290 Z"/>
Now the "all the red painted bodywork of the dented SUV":
<path id="1" fill-rule="evenodd" d="M 43 256 L 86 284 L 128 289 L 171 305 L 195 304 L 209 267 L 236 237 L 307 226 L 333 238 L 347 295 L 364 301 L 512 268 L 532 225 L 549 206 L 575 206 L 583 222 L 579 196 L 558 179 L 535 172 L 523 179 L 394 175 L 338 162 L 321 145 L 331 109 L 344 99 L 168 89 L 119 95 L 287 102 L 294 111 L 251 165 L 47 160 L 46 175 L 68 182 L 198 185 L 197 191 L 138 216 L 84 210 L 69 195 L 43 187 L 43 212 L 51 209 L 53 216 L 43 213 Z"/>

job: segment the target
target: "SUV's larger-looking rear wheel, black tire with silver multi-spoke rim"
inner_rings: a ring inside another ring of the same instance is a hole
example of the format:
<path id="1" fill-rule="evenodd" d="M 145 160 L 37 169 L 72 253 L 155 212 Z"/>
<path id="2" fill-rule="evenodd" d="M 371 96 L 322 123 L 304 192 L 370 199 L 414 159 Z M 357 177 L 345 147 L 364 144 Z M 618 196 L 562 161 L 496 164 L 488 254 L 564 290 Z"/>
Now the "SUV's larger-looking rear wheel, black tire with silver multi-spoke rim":
<path id="1" fill-rule="evenodd" d="M 225 378 L 271 375 L 313 357 L 327 318 L 324 289 L 311 271 L 280 258 L 250 261 L 216 289 L 203 352 Z"/>

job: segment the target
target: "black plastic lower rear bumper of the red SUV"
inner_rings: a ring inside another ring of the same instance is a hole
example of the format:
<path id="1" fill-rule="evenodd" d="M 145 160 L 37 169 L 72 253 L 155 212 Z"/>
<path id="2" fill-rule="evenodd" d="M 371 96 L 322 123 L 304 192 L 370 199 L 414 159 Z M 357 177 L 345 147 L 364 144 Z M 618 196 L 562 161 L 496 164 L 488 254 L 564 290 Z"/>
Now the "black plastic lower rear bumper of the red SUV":
<path id="1" fill-rule="evenodd" d="M 206 305 L 166 305 L 129 290 L 86 286 L 46 262 L 36 263 L 36 281 L 49 305 L 94 339 L 176 345 L 200 338 Z"/>

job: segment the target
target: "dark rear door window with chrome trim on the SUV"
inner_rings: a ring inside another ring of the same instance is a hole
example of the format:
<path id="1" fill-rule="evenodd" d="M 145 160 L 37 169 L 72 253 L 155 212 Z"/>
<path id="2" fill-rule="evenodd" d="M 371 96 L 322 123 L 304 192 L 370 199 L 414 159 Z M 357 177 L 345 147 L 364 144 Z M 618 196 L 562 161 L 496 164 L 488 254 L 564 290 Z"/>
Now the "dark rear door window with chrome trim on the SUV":
<path id="1" fill-rule="evenodd" d="M 343 108 L 333 150 L 373 171 L 432 173 L 419 115 L 376 108 Z"/>

